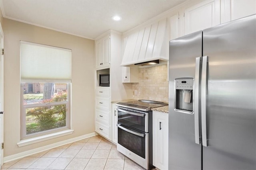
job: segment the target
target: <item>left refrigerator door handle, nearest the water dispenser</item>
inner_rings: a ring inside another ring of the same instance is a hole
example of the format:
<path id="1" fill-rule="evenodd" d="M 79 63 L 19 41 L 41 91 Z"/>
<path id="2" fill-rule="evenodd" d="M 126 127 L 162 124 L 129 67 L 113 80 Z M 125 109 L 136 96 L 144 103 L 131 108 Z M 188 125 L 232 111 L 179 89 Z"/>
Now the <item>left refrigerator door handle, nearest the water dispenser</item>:
<path id="1" fill-rule="evenodd" d="M 194 121 L 195 121 L 195 142 L 200 144 L 199 135 L 199 86 L 200 86 L 200 58 L 196 57 L 196 72 L 194 80 Z"/>

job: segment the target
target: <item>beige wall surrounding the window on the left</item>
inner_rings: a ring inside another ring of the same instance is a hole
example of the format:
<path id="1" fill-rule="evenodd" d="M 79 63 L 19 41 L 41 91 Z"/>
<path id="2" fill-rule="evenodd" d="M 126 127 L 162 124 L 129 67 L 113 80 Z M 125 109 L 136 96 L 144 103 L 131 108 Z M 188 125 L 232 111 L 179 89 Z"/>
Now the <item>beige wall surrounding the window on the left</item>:
<path id="1" fill-rule="evenodd" d="M 94 41 L 4 18 L 4 156 L 94 132 Z M 72 50 L 72 135 L 18 147 L 20 40 Z"/>

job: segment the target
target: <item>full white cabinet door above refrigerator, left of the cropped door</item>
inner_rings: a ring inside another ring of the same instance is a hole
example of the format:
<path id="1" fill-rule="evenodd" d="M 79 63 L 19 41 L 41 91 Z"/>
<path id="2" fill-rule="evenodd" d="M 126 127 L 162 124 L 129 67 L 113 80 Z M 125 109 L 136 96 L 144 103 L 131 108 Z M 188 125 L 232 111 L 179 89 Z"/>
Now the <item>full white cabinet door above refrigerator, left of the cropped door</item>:
<path id="1" fill-rule="evenodd" d="M 220 0 L 200 2 L 184 11 L 184 35 L 220 24 Z"/>

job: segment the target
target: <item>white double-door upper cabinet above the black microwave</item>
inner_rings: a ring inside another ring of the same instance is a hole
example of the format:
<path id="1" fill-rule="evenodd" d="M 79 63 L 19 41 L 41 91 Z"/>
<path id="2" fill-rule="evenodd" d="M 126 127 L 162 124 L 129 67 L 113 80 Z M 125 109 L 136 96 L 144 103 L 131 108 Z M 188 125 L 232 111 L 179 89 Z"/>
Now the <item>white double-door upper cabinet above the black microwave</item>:
<path id="1" fill-rule="evenodd" d="M 96 69 L 110 66 L 110 35 L 95 41 Z"/>

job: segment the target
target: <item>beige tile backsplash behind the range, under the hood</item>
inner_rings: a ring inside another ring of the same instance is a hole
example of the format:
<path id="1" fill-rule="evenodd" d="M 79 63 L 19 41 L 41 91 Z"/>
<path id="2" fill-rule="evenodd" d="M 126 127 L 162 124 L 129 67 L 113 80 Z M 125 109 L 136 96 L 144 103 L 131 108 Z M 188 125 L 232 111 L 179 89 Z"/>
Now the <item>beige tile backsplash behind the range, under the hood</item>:
<path id="1" fill-rule="evenodd" d="M 167 64 L 139 68 L 139 83 L 132 83 L 133 99 L 168 103 Z"/>

